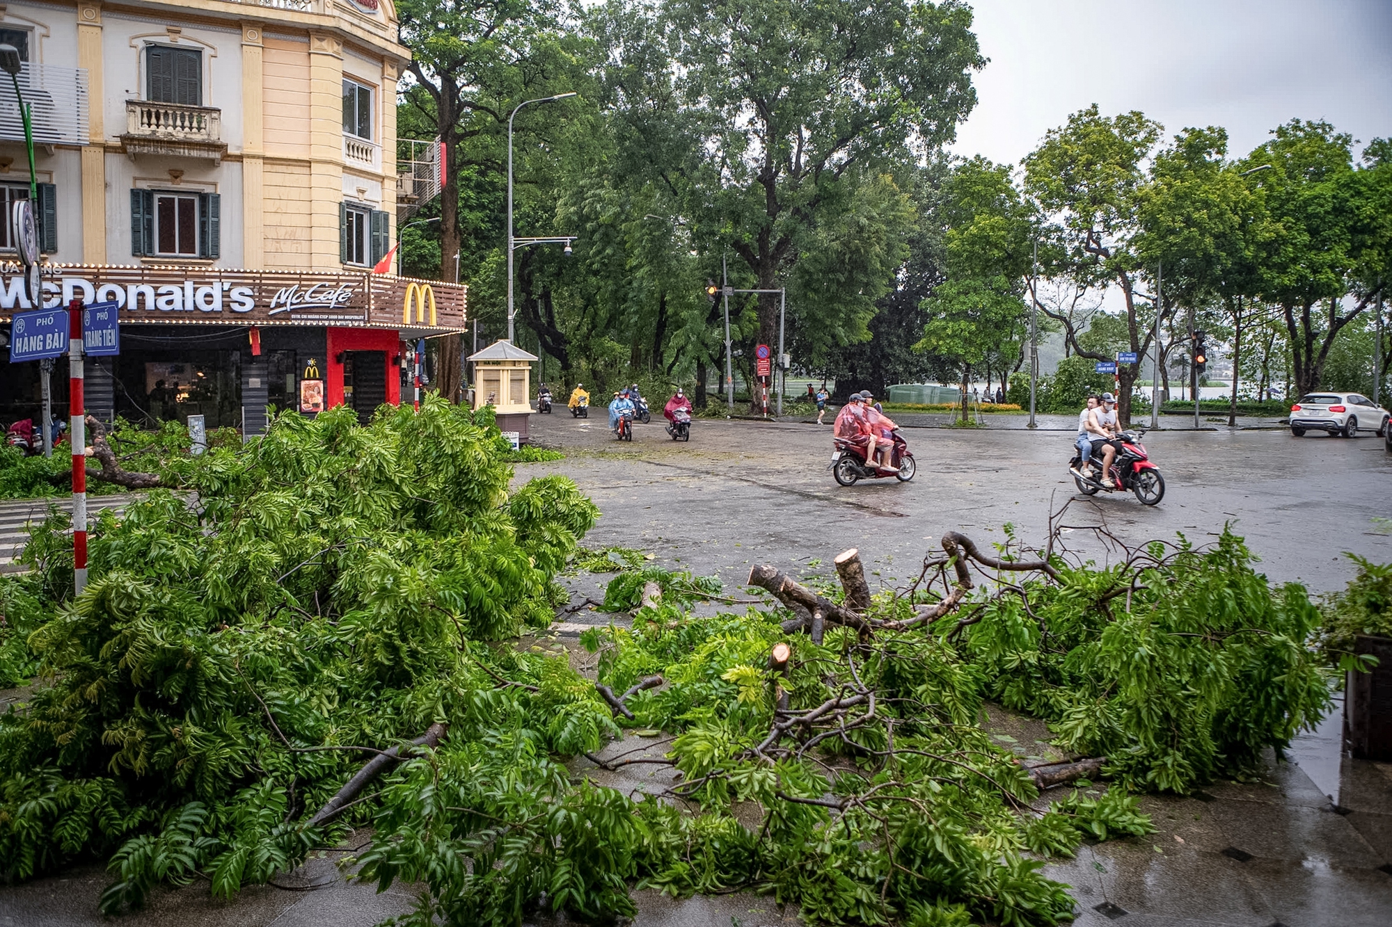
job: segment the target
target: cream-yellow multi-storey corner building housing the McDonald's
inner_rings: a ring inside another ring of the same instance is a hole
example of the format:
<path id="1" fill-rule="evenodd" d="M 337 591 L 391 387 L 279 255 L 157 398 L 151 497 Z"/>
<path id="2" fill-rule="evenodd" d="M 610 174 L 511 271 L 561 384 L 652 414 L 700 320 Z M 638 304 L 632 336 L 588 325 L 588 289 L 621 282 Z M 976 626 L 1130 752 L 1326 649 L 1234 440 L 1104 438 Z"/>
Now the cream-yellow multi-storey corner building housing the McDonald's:
<path id="1" fill-rule="evenodd" d="M 365 411 L 398 397 L 411 341 L 464 328 L 462 288 L 436 281 L 427 301 L 370 274 L 398 203 L 438 189 L 434 146 L 398 150 L 411 56 L 393 0 L 8 3 L 0 43 L 19 50 L 33 107 L 40 248 L 56 264 L 45 305 L 121 303 L 122 355 L 106 362 L 110 398 L 97 363 L 93 408 L 160 419 L 198 405 L 210 426 L 255 431 L 267 401 L 298 401 L 312 359 L 329 405 Z M 0 75 L 0 323 L 31 308 L 4 263 L 8 206 L 29 195 L 22 139 Z M 206 340 L 185 324 L 210 326 Z M 15 376 L 0 405 L 26 401 Z M 221 391 L 199 388 L 210 377 Z"/>

